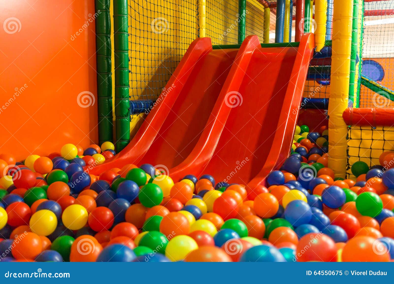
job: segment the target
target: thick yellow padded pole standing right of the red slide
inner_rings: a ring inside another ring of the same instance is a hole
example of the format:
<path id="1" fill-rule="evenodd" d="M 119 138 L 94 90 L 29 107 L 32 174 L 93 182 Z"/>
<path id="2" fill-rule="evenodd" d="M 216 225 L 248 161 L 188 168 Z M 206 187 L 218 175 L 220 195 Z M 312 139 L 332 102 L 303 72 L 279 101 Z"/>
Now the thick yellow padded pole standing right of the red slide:
<path id="1" fill-rule="evenodd" d="M 331 93 L 328 105 L 328 167 L 345 178 L 347 126 L 342 113 L 348 107 L 353 0 L 334 1 Z"/>

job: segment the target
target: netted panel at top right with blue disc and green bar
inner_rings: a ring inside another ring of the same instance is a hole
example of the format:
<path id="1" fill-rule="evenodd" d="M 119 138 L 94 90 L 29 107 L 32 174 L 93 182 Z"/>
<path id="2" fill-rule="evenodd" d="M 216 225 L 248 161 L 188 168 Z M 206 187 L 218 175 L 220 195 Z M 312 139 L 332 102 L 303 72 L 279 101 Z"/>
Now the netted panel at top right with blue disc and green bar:
<path id="1" fill-rule="evenodd" d="M 360 107 L 394 107 L 394 1 L 365 2 Z"/>

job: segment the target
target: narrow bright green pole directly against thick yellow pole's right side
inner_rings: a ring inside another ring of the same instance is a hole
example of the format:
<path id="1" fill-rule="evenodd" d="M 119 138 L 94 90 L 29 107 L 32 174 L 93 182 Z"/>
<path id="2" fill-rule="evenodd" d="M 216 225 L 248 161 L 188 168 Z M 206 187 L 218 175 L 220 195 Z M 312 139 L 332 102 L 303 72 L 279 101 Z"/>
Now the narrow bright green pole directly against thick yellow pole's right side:
<path id="1" fill-rule="evenodd" d="M 349 100 L 353 102 L 353 106 L 357 104 L 357 97 L 355 97 L 354 84 L 356 78 L 357 43 L 359 36 L 358 18 L 359 18 L 359 0 L 353 0 L 353 22 L 351 27 L 351 53 L 350 53 L 350 78 L 349 78 Z"/>

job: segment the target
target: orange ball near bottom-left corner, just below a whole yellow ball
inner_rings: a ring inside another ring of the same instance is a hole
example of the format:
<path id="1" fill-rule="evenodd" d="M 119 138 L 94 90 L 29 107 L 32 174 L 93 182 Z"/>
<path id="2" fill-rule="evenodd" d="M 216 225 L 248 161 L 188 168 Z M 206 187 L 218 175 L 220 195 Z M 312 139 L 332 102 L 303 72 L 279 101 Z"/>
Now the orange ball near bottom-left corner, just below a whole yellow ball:
<path id="1" fill-rule="evenodd" d="M 43 250 L 41 238 L 32 232 L 24 234 L 23 238 L 13 241 L 11 253 L 14 258 L 34 259 Z"/>

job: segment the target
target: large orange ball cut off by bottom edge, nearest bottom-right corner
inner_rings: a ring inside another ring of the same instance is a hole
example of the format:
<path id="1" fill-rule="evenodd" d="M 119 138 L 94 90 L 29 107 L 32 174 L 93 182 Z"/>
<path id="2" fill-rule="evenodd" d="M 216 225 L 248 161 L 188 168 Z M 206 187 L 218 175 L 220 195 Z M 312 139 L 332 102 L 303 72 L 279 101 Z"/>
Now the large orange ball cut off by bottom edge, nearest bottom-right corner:
<path id="1" fill-rule="evenodd" d="M 376 253 L 379 244 L 375 238 L 369 236 L 355 236 L 350 239 L 342 249 L 342 261 L 344 262 L 387 262 L 390 261 L 388 251 L 386 253 Z"/>

